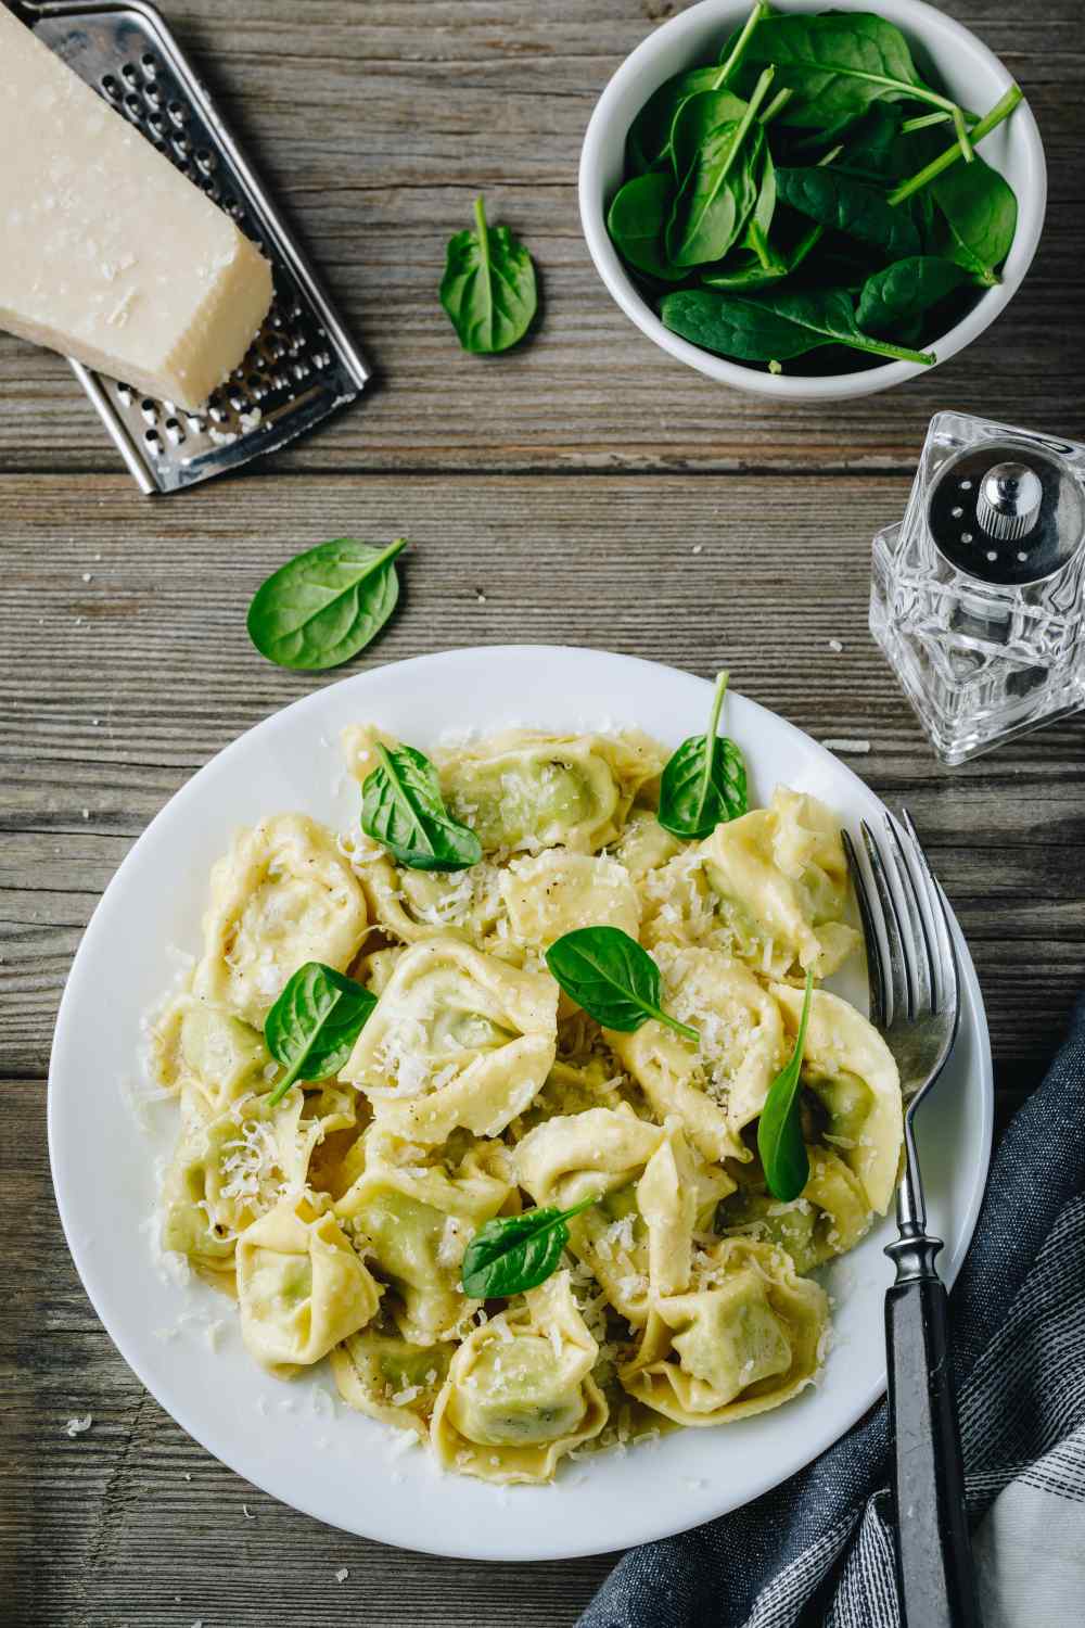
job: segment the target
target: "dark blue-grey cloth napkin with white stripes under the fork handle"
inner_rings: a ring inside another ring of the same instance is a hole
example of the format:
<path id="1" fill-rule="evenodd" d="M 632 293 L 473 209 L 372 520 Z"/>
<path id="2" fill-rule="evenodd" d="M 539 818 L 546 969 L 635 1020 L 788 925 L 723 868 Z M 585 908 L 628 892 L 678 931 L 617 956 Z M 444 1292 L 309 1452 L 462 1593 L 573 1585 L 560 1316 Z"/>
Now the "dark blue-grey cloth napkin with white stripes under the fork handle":
<path id="1" fill-rule="evenodd" d="M 1085 998 L 1002 1140 L 952 1319 L 984 1625 L 1085 1623 Z M 888 1462 L 882 1402 L 756 1503 L 631 1550 L 579 1628 L 896 1628 Z"/>

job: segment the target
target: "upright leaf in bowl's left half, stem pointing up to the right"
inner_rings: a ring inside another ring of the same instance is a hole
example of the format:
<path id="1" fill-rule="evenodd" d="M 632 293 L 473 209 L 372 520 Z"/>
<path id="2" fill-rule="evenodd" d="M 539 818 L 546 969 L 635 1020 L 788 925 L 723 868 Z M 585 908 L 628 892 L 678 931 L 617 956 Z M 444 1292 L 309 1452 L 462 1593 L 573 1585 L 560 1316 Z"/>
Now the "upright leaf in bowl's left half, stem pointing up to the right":
<path id="1" fill-rule="evenodd" d="M 732 101 L 727 91 L 701 91 L 678 109 L 670 147 L 680 186 L 665 236 L 672 265 L 721 260 L 753 210 L 765 142 L 755 119 L 768 86 L 763 75 L 739 119 L 717 119 L 721 103 Z"/>

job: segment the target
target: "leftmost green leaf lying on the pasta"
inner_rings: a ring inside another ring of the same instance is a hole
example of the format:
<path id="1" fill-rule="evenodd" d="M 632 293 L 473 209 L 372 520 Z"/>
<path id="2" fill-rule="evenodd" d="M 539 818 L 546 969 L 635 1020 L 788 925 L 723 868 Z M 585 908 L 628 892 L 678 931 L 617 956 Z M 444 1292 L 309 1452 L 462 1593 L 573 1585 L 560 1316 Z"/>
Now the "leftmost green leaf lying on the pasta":
<path id="1" fill-rule="evenodd" d="M 267 1048 L 286 1070 L 268 1105 L 281 1102 L 298 1078 L 337 1074 L 376 1004 L 371 990 L 322 961 L 298 967 L 264 1019 Z"/>

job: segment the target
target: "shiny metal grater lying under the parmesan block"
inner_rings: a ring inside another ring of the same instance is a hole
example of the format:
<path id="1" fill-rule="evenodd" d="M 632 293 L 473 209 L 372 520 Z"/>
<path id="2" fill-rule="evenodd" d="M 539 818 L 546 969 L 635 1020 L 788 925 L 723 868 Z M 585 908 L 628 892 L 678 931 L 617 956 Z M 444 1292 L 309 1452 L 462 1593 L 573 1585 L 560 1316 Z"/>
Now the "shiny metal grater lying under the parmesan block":
<path id="1" fill-rule="evenodd" d="M 272 264 L 268 317 L 242 365 L 198 414 L 72 361 L 140 490 L 148 497 L 179 492 L 237 469 L 353 400 L 369 370 L 155 7 L 145 0 L 23 0 L 15 10 L 224 208 Z"/>

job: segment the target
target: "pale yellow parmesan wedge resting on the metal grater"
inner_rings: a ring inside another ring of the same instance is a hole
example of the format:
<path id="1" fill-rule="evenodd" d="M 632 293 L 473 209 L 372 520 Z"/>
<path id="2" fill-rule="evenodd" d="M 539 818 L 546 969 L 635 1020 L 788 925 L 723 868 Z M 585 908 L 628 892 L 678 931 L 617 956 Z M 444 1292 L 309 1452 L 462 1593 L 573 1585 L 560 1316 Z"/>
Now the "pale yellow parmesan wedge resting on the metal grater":
<path id="1" fill-rule="evenodd" d="M 272 270 L 234 223 L 0 5 L 0 327 L 198 409 Z"/>

